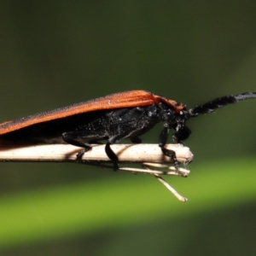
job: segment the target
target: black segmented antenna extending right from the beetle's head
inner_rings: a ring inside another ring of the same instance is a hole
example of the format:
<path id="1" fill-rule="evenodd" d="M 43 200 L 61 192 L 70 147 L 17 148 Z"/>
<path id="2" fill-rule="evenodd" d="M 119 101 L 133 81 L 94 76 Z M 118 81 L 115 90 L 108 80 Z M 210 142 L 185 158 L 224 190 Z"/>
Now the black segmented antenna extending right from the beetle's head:
<path id="1" fill-rule="evenodd" d="M 190 108 L 189 114 L 190 117 L 196 117 L 197 115 L 202 113 L 212 113 L 215 109 L 222 108 L 228 104 L 250 99 L 256 99 L 256 92 L 245 92 L 242 94 L 237 94 L 235 96 L 223 96 L 213 100 L 212 102 L 207 102 L 195 108 Z"/>

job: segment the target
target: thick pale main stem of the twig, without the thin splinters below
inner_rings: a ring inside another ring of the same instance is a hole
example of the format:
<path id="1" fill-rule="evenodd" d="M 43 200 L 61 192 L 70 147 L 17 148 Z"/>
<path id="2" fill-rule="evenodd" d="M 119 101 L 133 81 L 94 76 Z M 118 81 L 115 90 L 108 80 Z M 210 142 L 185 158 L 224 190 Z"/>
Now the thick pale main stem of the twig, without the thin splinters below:
<path id="1" fill-rule="evenodd" d="M 113 152 L 118 155 L 119 162 L 129 163 L 172 163 L 170 157 L 166 157 L 157 144 L 113 144 Z M 180 144 L 168 144 L 166 148 L 172 149 L 177 154 L 177 160 L 181 163 L 193 159 L 189 148 Z M 68 144 L 47 145 L 12 145 L 0 142 L 0 161 L 49 161 L 69 162 L 76 160 L 76 154 L 81 148 Z M 83 155 L 82 160 L 90 162 L 110 162 L 105 153 L 104 144 L 93 145 L 92 149 Z"/>

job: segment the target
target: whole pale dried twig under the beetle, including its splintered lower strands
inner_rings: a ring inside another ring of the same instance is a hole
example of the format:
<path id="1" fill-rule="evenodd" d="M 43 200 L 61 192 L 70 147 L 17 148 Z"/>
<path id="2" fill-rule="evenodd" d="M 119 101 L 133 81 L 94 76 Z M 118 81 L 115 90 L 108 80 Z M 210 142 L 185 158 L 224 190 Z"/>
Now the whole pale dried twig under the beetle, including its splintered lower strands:
<path id="1" fill-rule="evenodd" d="M 153 174 L 179 201 L 187 201 L 186 198 L 179 195 L 175 189 L 166 183 L 160 175 L 187 177 L 189 170 L 180 168 L 177 171 L 174 166 L 164 165 L 172 165 L 172 159 L 166 157 L 157 144 L 114 144 L 111 145 L 111 148 L 118 155 L 120 164 L 140 163 L 144 166 L 144 168 L 120 166 L 119 170 Z M 187 147 L 183 147 L 180 144 L 168 144 L 166 148 L 174 150 L 177 160 L 183 164 L 193 160 L 193 154 Z M 0 161 L 74 162 L 76 160 L 76 154 L 80 150 L 81 148 L 67 144 L 17 146 L 1 143 Z M 79 163 L 90 166 L 101 166 L 103 168 L 113 168 L 111 161 L 105 153 L 105 145 L 103 144 L 93 145 L 93 148 L 83 155 L 82 161 Z M 152 170 L 152 167 L 160 168 L 160 170 Z"/>

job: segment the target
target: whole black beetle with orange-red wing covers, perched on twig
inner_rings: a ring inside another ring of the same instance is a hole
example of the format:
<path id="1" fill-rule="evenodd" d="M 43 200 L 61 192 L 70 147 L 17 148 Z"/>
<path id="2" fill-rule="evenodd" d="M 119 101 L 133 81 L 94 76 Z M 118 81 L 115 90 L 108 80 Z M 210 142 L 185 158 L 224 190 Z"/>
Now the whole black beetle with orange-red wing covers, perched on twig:
<path id="1" fill-rule="evenodd" d="M 107 140 L 105 151 L 117 170 L 118 157 L 110 145 L 125 138 L 130 138 L 131 143 L 141 143 L 139 136 L 162 121 L 159 146 L 163 154 L 173 159 L 178 170 L 175 152 L 165 148 L 170 129 L 175 130 L 173 141 L 183 144 L 191 133 L 185 125 L 188 119 L 255 98 L 255 92 L 222 96 L 188 110 L 183 103 L 163 96 L 130 90 L 4 122 L 0 124 L 0 139 L 12 143 L 69 143 L 83 148 L 77 154 L 77 161 L 92 148 L 90 143 Z"/>

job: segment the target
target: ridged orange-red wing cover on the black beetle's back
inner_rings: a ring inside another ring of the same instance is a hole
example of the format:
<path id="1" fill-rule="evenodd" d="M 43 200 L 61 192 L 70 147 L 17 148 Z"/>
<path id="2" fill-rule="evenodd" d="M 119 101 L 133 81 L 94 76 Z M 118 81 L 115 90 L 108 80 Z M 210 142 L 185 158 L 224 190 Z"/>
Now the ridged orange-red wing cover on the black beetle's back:
<path id="1" fill-rule="evenodd" d="M 89 102 L 80 102 L 65 108 L 56 108 L 48 112 L 37 113 L 25 118 L 15 119 L 0 124 L 0 135 L 16 131 L 26 126 L 44 123 L 53 119 L 62 119 L 78 113 L 115 108 L 148 106 L 159 102 L 152 93 L 144 90 L 131 90 L 103 96 Z"/>

